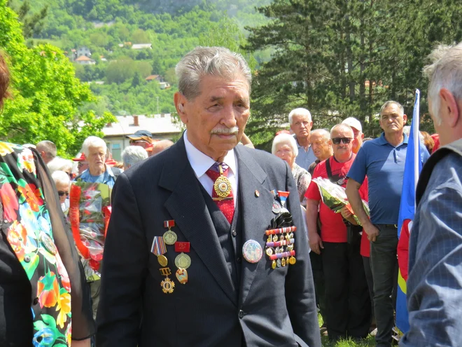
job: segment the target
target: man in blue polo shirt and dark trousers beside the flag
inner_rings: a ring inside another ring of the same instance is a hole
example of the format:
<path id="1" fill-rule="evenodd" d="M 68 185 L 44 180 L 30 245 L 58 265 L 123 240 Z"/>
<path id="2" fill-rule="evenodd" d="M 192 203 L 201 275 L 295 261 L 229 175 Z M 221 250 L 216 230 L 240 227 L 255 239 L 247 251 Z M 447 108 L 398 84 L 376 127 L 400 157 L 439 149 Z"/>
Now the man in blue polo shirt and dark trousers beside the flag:
<path id="1" fill-rule="evenodd" d="M 375 340 L 380 347 L 391 346 L 394 326 L 391 294 L 397 280 L 397 224 L 407 152 L 407 135 L 402 129 L 406 121 L 407 116 L 398 102 L 388 101 L 381 107 L 380 127 L 384 132 L 379 138 L 363 144 L 348 172 L 346 184 L 346 196 L 371 241 L 370 264 L 377 320 Z M 422 162 L 428 156 L 428 151 L 421 151 Z M 366 176 L 369 181 L 370 219 L 358 192 Z"/>

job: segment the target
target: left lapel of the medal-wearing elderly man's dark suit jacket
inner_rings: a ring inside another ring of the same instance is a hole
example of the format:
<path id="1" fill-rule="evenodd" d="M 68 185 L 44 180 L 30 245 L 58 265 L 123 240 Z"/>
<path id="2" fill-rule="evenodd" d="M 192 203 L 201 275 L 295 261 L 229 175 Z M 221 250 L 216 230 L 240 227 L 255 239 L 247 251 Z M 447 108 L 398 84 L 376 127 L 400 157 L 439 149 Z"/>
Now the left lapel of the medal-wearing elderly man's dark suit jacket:
<path id="1" fill-rule="evenodd" d="M 159 182 L 160 186 L 172 191 L 165 207 L 218 285 L 237 305 L 236 288 L 202 196 L 200 182 L 189 164 L 183 137 L 169 151 Z"/>

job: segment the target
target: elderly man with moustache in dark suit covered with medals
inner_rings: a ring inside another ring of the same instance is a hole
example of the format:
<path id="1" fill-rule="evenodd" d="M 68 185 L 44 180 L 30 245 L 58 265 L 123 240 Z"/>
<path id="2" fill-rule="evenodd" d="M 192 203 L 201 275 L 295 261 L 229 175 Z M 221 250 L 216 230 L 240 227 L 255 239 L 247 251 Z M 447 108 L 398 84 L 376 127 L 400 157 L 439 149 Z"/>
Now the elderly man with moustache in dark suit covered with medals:
<path id="1" fill-rule="evenodd" d="M 237 146 L 248 65 L 196 48 L 176 74 L 186 132 L 113 190 L 97 346 L 321 346 L 292 173 Z"/>

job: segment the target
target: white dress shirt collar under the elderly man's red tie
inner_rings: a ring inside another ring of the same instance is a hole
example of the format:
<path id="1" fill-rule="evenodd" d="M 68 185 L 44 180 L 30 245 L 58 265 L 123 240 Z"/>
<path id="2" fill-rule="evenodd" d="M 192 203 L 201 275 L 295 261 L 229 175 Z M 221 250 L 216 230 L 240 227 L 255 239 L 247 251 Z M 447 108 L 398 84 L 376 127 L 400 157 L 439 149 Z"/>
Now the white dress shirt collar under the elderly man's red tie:
<path id="1" fill-rule="evenodd" d="M 185 131 L 184 135 L 186 155 L 188 156 L 188 161 L 193 168 L 197 179 L 202 184 L 204 189 L 209 193 L 209 196 L 212 196 L 212 191 L 214 189 L 214 181 L 207 175 L 207 170 L 211 168 L 216 161 L 203 154 L 199 149 L 193 146 L 188 140 L 188 130 Z M 223 158 L 223 163 L 228 165 L 228 179 L 231 182 L 232 196 L 234 196 L 234 203 L 236 207 L 236 197 L 237 197 L 237 161 L 235 156 L 235 150 L 232 149 L 228 151 L 225 158 Z"/>

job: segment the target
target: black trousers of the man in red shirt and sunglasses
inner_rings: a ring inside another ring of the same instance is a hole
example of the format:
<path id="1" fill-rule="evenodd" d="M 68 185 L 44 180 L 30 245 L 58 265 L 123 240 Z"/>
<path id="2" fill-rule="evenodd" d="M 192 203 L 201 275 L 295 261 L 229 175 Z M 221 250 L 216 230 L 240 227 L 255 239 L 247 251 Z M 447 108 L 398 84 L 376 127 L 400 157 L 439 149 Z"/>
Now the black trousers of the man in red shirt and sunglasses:
<path id="1" fill-rule="evenodd" d="M 359 243 L 323 245 L 329 339 L 365 338 L 370 327 L 370 297 Z"/>

